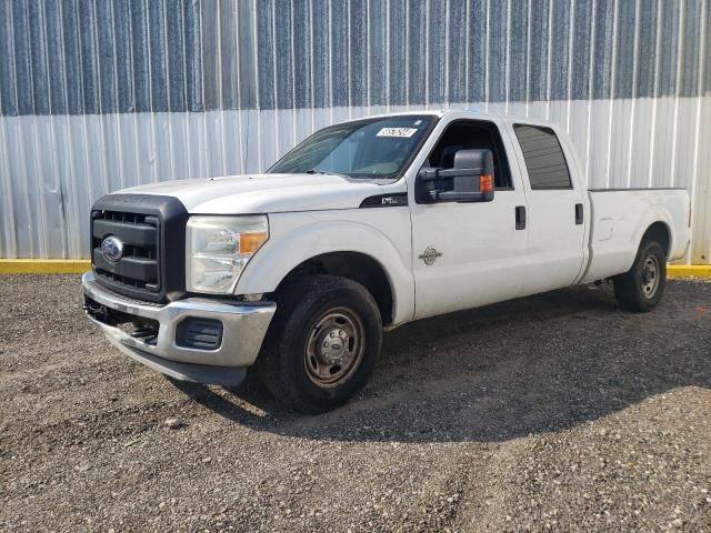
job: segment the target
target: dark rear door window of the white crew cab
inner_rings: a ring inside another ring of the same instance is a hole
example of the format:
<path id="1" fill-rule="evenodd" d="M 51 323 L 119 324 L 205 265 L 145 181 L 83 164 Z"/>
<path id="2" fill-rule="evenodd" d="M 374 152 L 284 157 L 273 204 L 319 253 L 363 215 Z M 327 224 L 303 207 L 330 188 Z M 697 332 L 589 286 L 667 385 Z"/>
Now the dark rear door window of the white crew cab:
<path id="1" fill-rule="evenodd" d="M 568 162 L 555 132 L 550 128 L 513 124 L 531 190 L 570 190 L 573 188 Z"/>

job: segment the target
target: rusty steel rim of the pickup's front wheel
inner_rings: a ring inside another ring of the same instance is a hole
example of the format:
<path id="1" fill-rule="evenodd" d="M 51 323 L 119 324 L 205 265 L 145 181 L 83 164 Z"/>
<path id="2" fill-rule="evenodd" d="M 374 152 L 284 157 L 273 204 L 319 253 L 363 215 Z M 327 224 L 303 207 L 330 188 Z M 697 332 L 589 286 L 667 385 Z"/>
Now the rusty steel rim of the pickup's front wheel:
<path id="1" fill-rule="evenodd" d="M 364 352 L 363 322 L 349 308 L 333 308 L 311 326 L 303 352 L 307 375 L 321 388 L 348 381 L 360 366 Z"/>

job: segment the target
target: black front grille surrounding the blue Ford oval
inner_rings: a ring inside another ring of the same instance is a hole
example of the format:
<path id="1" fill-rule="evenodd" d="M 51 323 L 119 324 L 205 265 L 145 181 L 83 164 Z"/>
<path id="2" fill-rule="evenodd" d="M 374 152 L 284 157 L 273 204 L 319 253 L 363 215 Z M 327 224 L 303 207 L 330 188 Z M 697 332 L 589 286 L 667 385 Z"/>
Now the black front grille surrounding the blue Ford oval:
<path id="1" fill-rule="evenodd" d="M 109 194 L 91 212 L 91 260 L 97 281 L 132 298 L 163 302 L 184 289 L 184 231 L 188 213 L 176 198 Z M 123 244 L 109 260 L 101 243 Z M 171 294 L 172 293 L 172 294 Z"/>

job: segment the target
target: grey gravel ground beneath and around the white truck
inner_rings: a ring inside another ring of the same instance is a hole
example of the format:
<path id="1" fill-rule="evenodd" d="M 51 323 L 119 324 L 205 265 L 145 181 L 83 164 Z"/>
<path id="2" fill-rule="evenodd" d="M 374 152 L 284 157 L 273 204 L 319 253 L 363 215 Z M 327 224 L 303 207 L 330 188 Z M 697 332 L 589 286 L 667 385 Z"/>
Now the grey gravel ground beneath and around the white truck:
<path id="1" fill-rule="evenodd" d="M 0 276 L 0 530 L 711 531 L 711 283 L 667 290 L 403 326 L 306 416 L 119 354 L 79 276 Z"/>

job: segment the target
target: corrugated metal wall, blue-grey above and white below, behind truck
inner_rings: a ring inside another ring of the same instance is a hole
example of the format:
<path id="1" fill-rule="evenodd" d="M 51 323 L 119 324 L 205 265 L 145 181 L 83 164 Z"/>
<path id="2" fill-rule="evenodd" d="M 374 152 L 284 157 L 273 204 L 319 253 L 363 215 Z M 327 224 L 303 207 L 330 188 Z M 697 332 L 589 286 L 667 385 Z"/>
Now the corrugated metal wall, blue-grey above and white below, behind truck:
<path id="1" fill-rule="evenodd" d="M 333 121 L 480 108 L 594 187 L 687 187 L 711 257 L 709 0 L 0 0 L 0 255 L 87 255 L 89 205 L 264 169 Z"/>

